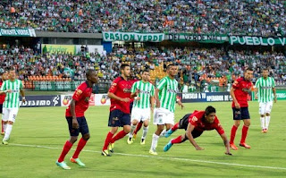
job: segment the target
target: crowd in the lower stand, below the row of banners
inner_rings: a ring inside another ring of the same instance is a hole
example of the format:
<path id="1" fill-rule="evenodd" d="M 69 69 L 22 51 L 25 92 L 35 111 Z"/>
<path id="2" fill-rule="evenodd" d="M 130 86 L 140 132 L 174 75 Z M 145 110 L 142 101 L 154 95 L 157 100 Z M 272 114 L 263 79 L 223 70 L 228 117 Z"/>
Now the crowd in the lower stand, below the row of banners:
<path id="1" fill-rule="evenodd" d="M 103 54 L 38 54 L 29 47 L 0 48 L 0 70 L 14 65 L 21 80 L 31 75 L 50 75 L 83 80 L 86 69 L 99 71 L 100 82 L 110 84 L 119 75 L 122 63 L 130 64 L 134 76 L 144 68 L 154 70 L 159 64 L 179 66 L 177 80 L 184 83 L 197 83 L 201 76 L 223 77 L 231 82 L 231 76 L 241 76 L 249 65 L 254 67 L 254 80 L 260 76 L 261 69 L 268 66 L 270 75 L 278 83 L 286 81 L 286 57 L 281 53 L 250 51 L 228 51 L 212 48 L 166 48 L 114 47 L 112 53 Z M 181 79 L 180 79 L 181 78 Z"/>

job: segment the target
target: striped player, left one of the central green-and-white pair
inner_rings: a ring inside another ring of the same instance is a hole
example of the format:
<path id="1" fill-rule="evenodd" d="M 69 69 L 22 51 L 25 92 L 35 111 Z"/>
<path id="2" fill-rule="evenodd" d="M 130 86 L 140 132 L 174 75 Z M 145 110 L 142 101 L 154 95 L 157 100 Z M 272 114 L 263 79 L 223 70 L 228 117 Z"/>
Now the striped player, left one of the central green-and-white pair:
<path id="1" fill-rule="evenodd" d="M 132 134 L 139 122 L 144 123 L 143 135 L 141 138 L 141 145 L 145 144 L 145 139 L 148 131 L 148 124 L 150 120 L 150 109 L 154 108 L 154 86 L 148 81 L 150 76 L 149 71 L 144 70 L 142 72 L 142 80 L 136 81 L 131 89 L 131 98 L 134 97 L 134 104 L 131 111 L 131 127 L 128 144 L 132 143 Z"/>

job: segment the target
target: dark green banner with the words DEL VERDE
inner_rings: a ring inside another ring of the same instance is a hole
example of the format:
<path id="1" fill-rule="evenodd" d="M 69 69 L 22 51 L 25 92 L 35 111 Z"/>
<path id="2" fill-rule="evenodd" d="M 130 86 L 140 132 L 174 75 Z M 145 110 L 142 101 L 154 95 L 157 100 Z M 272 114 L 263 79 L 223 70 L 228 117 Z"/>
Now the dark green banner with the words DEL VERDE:
<path id="1" fill-rule="evenodd" d="M 199 43 L 224 43 L 228 42 L 227 35 L 192 34 L 192 33 L 167 33 L 167 40 L 176 42 L 195 41 Z"/>

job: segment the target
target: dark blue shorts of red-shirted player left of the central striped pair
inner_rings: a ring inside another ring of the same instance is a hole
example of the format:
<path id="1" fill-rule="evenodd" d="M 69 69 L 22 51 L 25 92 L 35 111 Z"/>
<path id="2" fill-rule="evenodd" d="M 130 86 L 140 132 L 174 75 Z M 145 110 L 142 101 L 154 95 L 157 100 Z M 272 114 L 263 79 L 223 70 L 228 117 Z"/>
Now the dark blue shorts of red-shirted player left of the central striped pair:
<path id="1" fill-rule="evenodd" d="M 130 125 L 130 114 L 125 114 L 119 109 L 110 112 L 108 127 L 123 127 L 123 125 Z"/>

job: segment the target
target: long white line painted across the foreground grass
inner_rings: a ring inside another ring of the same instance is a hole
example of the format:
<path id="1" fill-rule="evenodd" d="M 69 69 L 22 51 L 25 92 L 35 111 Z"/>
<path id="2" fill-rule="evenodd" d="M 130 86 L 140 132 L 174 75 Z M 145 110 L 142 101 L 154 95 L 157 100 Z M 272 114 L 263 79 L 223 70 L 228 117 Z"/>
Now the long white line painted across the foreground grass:
<path id="1" fill-rule="evenodd" d="M 17 146 L 17 147 L 29 147 L 29 148 L 62 149 L 62 148 L 47 147 L 47 146 L 41 146 L 41 145 L 26 145 L 26 144 L 17 144 L 17 143 L 9 143 L 9 145 Z M 75 149 L 71 148 L 71 150 L 75 150 Z M 91 153 L 101 153 L 101 151 L 86 150 L 86 149 L 83 149 L 82 151 L 91 152 Z M 253 168 L 261 168 L 261 169 L 286 170 L 286 167 L 273 167 L 273 166 L 265 166 L 265 165 L 243 165 L 243 164 L 236 164 L 236 163 L 223 163 L 223 162 L 196 160 L 196 159 L 181 158 L 181 157 L 157 157 L 157 156 L 148 156 L 148 155 L 133 155 L 133 154 L 127 154 L 127 153 L 114 153 L 114 155 L 121 155 L 121 156 L 127 156 L 127 157 L 149 157 L 149 158 L 164 159 L 164 160 L 188 161 L 188 162 L 214 164 L 214 165 L 233 165 L 233 166 L 253 167 Z M 226 157 L 231 157 L 231 156 L 226 156 Z"/>

